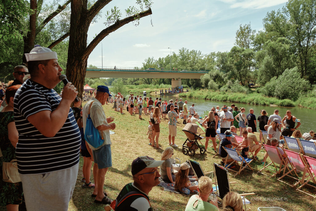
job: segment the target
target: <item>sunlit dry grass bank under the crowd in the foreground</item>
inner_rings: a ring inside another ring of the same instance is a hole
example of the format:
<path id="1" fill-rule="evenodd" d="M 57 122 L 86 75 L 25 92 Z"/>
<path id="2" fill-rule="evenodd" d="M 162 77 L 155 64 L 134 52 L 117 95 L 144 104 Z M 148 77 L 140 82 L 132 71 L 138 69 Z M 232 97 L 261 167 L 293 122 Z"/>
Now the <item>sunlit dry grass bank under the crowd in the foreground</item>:
<path id="1" fill-rule="evenodd" d="M 148 116 L 143 115 L 145 120 L 139 120 L 138 115 L 130 116 L 126 111 L 125 115 L 121 115 L 119 112 L 113 111 L 112 105 L 104 105 L 106 116 L 113 116 L 115 118 L 114 123 L 116 124 L 116 129 L 114 130 L 116 133 L 111 135 L 113 166 L 106 173 L 104 189 L 109 193 L 111 199 L 115 199 L 124 185 L 132 182 L 132 160 L 142 155 L 148 155 L 156 160 L 160 160 L 163 150 L 155 149 L 148 145 L 146 135 L 149 124 Z M 159 145 L 163 149 L 169 145 L 167 123 L 167 120 L 163 119 L 160 126 Z M 183 124 L 178 124 L 176 144 L 180 147 L 174 149 L 174 157 L 180 158 L 181 163 L 190 158 L 188 155 L 182 154 L 181 145 L 186 139 L 185 134 L 182 132 L 183 126 Z M 258 134 L 256 135 L 258 136 Z M 210 143 L 209 146 L 211 145 Z M 197 150 L 196 155 L 192 159 L 201 164 L 204 172 L 210 172 L 213 171 L 213 163 L 219 163 L 221 160 L 218 157 L 213 158 L 213 154 L 214 151 L 211 148 L 208 148 L 208 152 L 204 155 L 201 155 Z M 259 153 L 258 157 L 262 159 L 263 154 Z M 103 210 L 104 206 L 95 204 L 94 199 L 91 198 L 92 190 L 81 187 L 83 184 L 81 182 L 82 164 L 83 161 L 81 158 L 76 188 L 69 204 L 69 210 Z M 251 204 L 247 205 L 247 210 L 257 210 L 258 207 L 273 206 L 282 207 L 285 210 L 316 210 L 316 200 L 311 196 L 307 196 L 300 191 L 296 191 L 295 188 L 277 181 L 276 177 L 269 178 L 257 173 L 263 167 L 261 161 L 252 162 L 251 166 L 254 172 L 244 170 L 241 175 L 236 177 L 230 176 L 230 181 L 237 182 L 237 184 L 231 184 L 232 191 L 238 193 L 255 193 L 254 196 L 247 197 L 251 201 Z M 92 170 L 91 178 L 93 180 Z M 316 194 L 315 189 L 304 188 L 304 190 L 314 195 Z M 190 196 L 164 191 L 163 188 L 156 186 L 149 193 L 149 198 L 154 210 L 185 210 Z M 219 201 L 221 200 L 219 199 Z"/>

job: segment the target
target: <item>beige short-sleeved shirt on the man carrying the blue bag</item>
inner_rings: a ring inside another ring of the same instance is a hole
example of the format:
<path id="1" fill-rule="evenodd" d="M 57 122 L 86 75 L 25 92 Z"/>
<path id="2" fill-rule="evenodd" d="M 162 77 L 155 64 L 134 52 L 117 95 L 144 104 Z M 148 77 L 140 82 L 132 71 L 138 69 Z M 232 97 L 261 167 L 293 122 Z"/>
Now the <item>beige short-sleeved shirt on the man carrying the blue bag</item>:
<path id="1" fill-rule="evenodd" d="M 88 118 L 88 112 L 89 112 L 89 106 L 90 104 L 93 102 L 93 104 L 91 105 L 91 109 L 90 109 L 90 118 L 92 119 L 93 125 L 95 128 L 99 127 L 102 124 L 107 124 L 106 121 L 106 116 L 105 116 L 105 112 L 102 108 L 102 104 L 100 103 L 99 100 L 92 98 L 91 100 L 89 100 L 88 103 L 86 103 L 86 105 L 83 106 L 82 109 L 82 120 L 83 120 L 83 131 L 85 132 L 86 130 L 86 122 L 87 122 L 87 118 Z M 104 137 L 104 142 L 103 144 L 98 147 L 98 148 L 94 148 L 92 147 L 88 142 L 89 147 L 92 150 L 96 150 L 101 148 L 102 146 L 106 145 L 106 144 L 112 144 L 111 143 L 111 138 L 110 138 L 110 130 L 99 130 L 100 136 L 102 137 L 102 133 L 103 133 L 103 137 Z"/>

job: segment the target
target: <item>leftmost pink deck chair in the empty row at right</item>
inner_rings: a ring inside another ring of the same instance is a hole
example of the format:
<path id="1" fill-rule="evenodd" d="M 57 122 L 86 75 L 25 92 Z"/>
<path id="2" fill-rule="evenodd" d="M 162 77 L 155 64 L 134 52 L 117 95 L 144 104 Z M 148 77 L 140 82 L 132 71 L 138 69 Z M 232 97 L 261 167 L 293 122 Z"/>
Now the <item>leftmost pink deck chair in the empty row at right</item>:
<path id="1" fill-rule="evenodd" d="M 271 160 L 271 163 L 269 163 L 268 165 L 266 165 L 267 160 L 265 160 L 265 161 L 264 161 L 264 164 L 263 164 L 263 168 L 258 171 L 259 173 L 262 173 L 262 171 L 263 171 L 264 169 L 266 169 L 266 168 L 267 168 L 267 169 L 270 169 L 270 170 L 272 170 L 272 171 L 275 171 L 275 173 L 272 174 L 272 176 L 270 176 L 270 178 L 271 178 L 271 177 L 274 177 L 276 174 L 280 174 L 281 171 L 284 171 L 284 170 L 285 170 L 285 168 L 287 168 L 287 169 L 289 170 L 289 167 L 288 167 L 288 160 L 287 160 L 287 159 L 285 160 L 285 159 L 283 158 L 283 156 L 280 154 L 279 150 L 278 150 L 276 147 L 272 147 L 272 146 L 269 146 L 269 145 L 266 145 L 266 144 L 263 144 L 263 146 L 264 146 L 265 151 L 267 151 L 267 153 L 268 153 L 268 156 L 269 156 L 269 158 L 270 158 L 270 160 Z M 270 166 L 271 164 L 274 165 L 275 169 L 268 168 L 268 166 Z M 279 168 L 276 166 L 276 164 L 279 165 Z M 282 167 L 283 165 L 284 165 L 284 167 Z M 279 169 L 279 170 L 278 170 L 278 169 Z M 289 170 L 289 171 L 290 171 L 290 170 Z M 263 175 L 266 175 L 266 174 L 264 174 L 264 173 L 262 173 L 262 174 L 263 174 Z M 269 177 L 269 175 L 266 175 L 266 176 Z"/>

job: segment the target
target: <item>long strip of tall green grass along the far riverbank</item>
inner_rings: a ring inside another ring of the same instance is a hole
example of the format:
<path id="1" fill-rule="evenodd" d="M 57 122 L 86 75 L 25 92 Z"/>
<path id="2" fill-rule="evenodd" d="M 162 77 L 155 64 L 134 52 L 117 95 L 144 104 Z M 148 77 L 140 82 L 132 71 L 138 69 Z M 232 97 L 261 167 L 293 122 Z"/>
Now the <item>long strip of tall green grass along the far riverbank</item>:
<path id="1" fill-rule="evenodd" d="M 197 99 L 209 99 L 214 101 L 229 101 L 235 103 L 246 103 L 251 105 L 277 105 L 286 107 L 295 107 L 298 105 L 290 99 L 277 99 L 273 97 L 265 97 L 259 93 L 232 93 L 220 91 L 210 91 L 207 89 L 194 90 L 191 92 L 180 93 L 179 97 L 197 98 Z M 315 103 L 316 100 L 314 99 Z M 304 106 L 305 107 L 305 106 Z"/>

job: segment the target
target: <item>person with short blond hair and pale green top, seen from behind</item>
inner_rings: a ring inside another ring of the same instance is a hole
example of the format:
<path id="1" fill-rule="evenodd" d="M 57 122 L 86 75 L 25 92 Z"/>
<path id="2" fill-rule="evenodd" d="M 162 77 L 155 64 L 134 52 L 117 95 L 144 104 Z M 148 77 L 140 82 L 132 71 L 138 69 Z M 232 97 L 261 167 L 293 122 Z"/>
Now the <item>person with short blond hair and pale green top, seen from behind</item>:
<path id="1" fill-rule="evenodd" d="M 206 176 L 200 177 L 197 191 L 198 195 L 191 196 L 185 211 L 218 211 L 217 202 L 207 202 L 210 193 L 213 192 L 211 178 Z"/>

